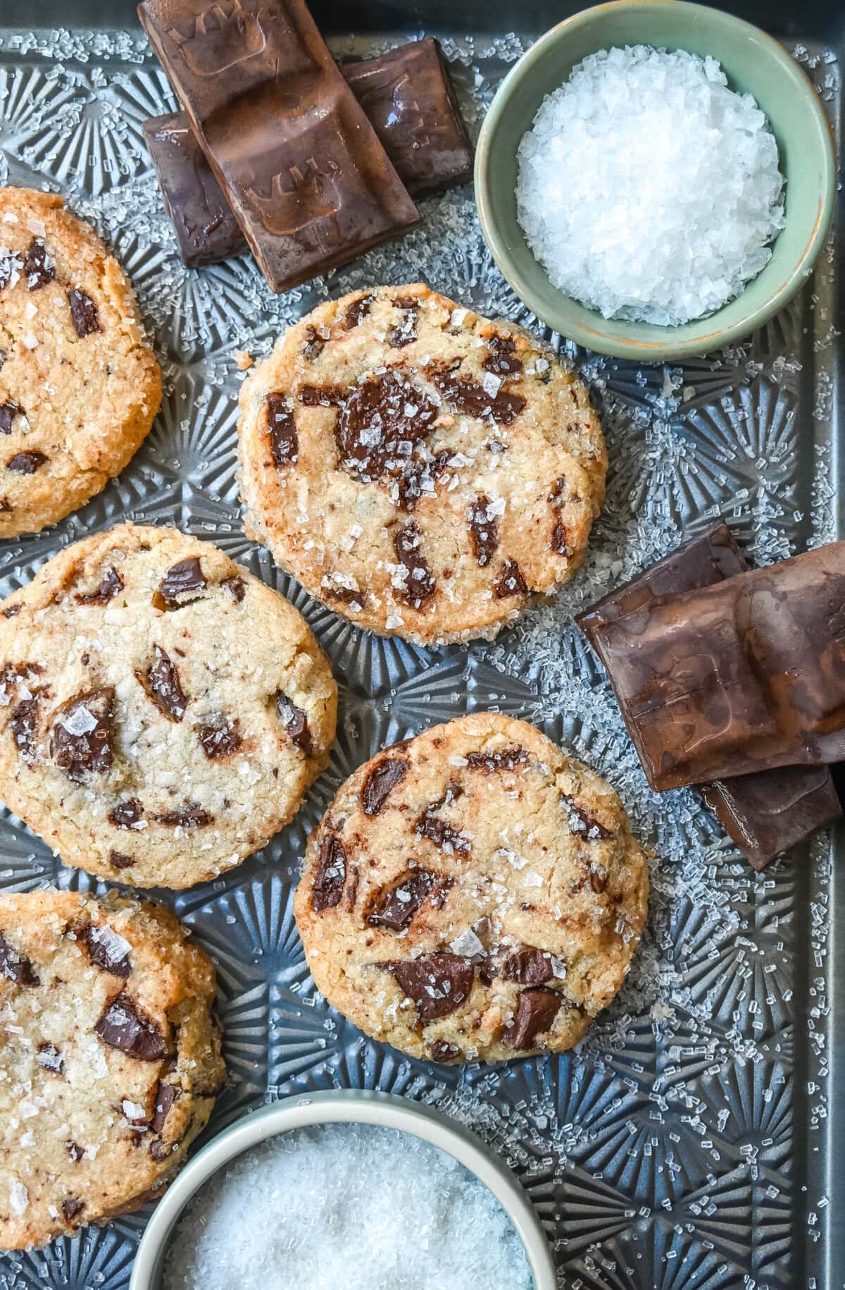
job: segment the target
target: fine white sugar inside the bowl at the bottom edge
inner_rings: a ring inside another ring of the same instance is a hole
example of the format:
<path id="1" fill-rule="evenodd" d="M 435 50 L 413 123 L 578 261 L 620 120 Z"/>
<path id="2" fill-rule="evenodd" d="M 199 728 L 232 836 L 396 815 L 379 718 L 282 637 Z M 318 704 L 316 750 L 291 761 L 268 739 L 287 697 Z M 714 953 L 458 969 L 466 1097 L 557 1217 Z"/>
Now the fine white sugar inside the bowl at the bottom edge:
<path id="1" fill-rule="evenodd" d="M 435 1147 L 375 1125 L 281 1134 L 188 1205 L 164 1290 L 531 1290 L 504 1209 Z"/>

